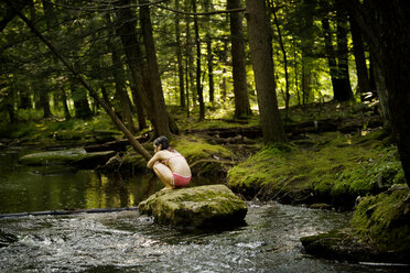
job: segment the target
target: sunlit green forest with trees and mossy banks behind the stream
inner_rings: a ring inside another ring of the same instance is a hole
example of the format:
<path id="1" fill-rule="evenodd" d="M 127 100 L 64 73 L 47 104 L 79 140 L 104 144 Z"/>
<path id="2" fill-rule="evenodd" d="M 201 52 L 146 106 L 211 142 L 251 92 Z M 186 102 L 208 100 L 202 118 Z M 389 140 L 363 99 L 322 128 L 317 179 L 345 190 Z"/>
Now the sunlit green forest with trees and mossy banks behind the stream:
<path id="1" fill-rule="evenodd" d="M 152 141 L 166 135 L 194 177 L 222 177 L 248 200 L 355 210 L 347 237 L 371 238 L 373 250 L 365 255 L 355 241 L 352 253 L 410 256 L 404 0 L 2 0 L 0 8 L 0 152 L 116 150 L 115 168 L 129 164 L 128 175 L 144 170 Z"/>

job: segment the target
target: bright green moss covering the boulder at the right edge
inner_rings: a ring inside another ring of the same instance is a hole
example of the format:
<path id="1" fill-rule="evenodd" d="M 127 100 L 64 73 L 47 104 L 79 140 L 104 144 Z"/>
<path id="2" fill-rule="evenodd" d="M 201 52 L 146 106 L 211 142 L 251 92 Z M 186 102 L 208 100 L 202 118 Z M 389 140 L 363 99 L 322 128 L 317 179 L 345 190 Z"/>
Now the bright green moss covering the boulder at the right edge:
<path id="1" fill-rule="evenodd" d="M 364 198 L 352 218 L 352 226 L 364 240 L 382 251 L 410 253 L 410 192 L 406 185 Z"/>

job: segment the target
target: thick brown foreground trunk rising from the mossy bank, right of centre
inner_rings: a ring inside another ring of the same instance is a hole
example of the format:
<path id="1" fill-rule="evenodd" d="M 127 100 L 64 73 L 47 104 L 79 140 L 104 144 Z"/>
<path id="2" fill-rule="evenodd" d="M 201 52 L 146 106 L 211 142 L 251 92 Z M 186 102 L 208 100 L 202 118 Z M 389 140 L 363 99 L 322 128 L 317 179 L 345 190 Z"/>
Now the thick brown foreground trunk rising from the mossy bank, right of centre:
<path id="1" fill-rule="evenodd" d="M 287 138 L 278 109 L 271 39 L 265 20 L 265 2 L 247 0 L 246 10 L 263 140 L 265 142 L 285 142 Z"/>

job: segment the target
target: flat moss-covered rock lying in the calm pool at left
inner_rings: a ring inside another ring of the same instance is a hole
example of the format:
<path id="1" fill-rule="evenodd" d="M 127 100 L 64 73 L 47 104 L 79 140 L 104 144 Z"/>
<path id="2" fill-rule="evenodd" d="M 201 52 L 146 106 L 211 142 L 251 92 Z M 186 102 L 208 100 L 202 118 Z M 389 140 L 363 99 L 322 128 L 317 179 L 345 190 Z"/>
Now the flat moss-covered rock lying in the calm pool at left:
<path id="1" fill-rule="evenodd" d="M 86 156 L 84 149 L 71 149 L 63 151 L 41 152 L 26 154 L 19 159 L 24 165 L 58 165 L 68 164 Z"/>

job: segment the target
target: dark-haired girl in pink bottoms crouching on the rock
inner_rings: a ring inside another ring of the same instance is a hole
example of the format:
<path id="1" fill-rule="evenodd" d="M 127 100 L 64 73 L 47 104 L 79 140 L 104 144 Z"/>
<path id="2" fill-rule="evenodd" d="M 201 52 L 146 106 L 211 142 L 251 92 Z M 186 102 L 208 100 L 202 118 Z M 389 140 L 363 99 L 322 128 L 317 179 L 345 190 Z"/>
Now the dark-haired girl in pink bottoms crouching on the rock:
<path id="1" fill-rule="evenodd" d="M 155 154 L 147 167 L 153 168 L 168 189 L 187 186 L 192 174 L 185 157 L 170 146 L 164 135 L 155 139 L 153 146 Z"/>

